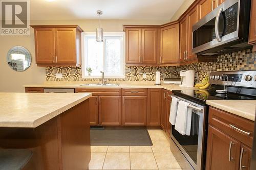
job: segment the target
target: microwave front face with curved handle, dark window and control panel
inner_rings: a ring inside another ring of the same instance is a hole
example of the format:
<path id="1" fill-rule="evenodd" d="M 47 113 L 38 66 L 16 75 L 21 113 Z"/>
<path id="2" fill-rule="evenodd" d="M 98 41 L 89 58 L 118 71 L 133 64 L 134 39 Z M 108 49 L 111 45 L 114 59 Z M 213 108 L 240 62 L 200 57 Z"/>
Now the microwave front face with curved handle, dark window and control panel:
<path id="1" fill-rule="evenodd" d="M 199 20 L 193 26 L 192 52 L 196 54 L 239 39 L 239 7 L 239 0 L 226 0 Z"/>

